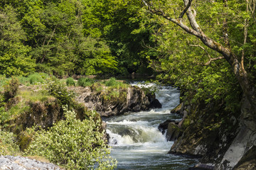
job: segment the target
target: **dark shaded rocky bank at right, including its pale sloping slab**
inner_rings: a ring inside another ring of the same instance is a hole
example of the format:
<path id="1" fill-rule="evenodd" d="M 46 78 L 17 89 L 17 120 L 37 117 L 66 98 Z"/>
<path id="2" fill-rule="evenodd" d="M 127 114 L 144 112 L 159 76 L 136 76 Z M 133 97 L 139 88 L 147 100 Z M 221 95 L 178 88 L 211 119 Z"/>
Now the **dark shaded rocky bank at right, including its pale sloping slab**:
<path id="1" fill-rule="evenodd" d="M 183 102 L 178 124 L 182 135 L 169 153 L 200 157 L 201 163 L 211 163 L 214 169 L 255 169 L 256 126 L 252 120 L 245 122 L 245 112 L 250 111 L 246 108 L 245 103 L 231 113 L 220 101 Z"/>

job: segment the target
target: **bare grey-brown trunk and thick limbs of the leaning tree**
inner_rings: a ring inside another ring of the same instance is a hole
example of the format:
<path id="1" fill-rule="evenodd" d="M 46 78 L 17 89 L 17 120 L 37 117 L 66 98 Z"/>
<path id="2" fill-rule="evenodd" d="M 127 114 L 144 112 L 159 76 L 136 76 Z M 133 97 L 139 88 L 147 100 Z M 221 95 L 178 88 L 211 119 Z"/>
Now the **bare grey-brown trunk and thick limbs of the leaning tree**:
<path id="1" fill-rule="evenodd" d="M 241 60 L 238 60 L 238 56 L 236 56 L 233 53 L 233 50 L 230 47 L 230 45 L 227 45 L 228 33 L 226 32 L 224 33 L 225 34 L 224 45 L 221 44 L 220 42 L 213 40 L 212 38 L 209 38 L 208 35 L 206 35 L 203 32 L 201 26 L 199 26 L 198 22 L 196 21 L 196 10 L 191 7 L 190 0 L 184 0 L 183 5 L 185 6 L 185 8 L 183 8 L 183 11 L 181 11 L 179 16 L 176 18 L 171 16 L 168 13 L 168 11 L 163 11 L 163 9 L 161 8 L 164 5 L 163 1 L 160 1 L 160 3 L 158 3 L 155 6 L 151 5 L 151 4 L 154 4 L 154 1 L 144 1 L 144 0 L 142 1 L 145 4 L 145 6 L 149 8 L 149 11 L 151 11 L 151 13 L 155 13 L 159 16 L 163 16 L 164 18 L 166 18 L 166 20 L 171 21 L 172 23 L 175 23 L 177 26 L 185 30 L 186 33 L 196 36 L 203 42 L 204 45 L 223 55 L 223 57 L 225 57 L 225 60 L 230 64 L 230 67 L 232 67 L 235 77 L 238 79 L 238 82 L 247 100 L 250 101 L 253 108 L 256 107 L 255 87 L 250 82 L 250 79 L 248 78 L 247 72 L 244 67 L 244 58 L 241 58 Z M 188 17 L 188 21 L 191 27 L 189 27 L 186 23 L 183 23 L 183 17 L 185 16 L 185 14 Z M 215 59 L 210 59 L 210 60 L 215 60 Z"/>

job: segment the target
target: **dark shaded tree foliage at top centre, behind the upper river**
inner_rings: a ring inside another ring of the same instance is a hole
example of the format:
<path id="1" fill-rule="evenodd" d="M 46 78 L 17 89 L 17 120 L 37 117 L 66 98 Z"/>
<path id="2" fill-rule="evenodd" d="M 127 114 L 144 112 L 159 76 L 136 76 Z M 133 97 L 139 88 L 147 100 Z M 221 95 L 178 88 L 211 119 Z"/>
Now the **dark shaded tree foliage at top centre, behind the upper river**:
<path id="1" fill-rule="evenodd" d="M 93 8 L 95 17 L 101 21 L 102 34 L 110 46 L 112 54 L 117 56 L 119 74 L 141 72 L 151 74 L 148 68 L 146 55 L 153 45 L 151 31 L 158 25 L 156 22 L 149 23 L 144 19 L 141 1 L 113 1 L 101 0 Z M 100 11 L 100 13 L 98 12 Z M 142 23 L 147 26 L 140 27 Z M 148 54 L 149 55 L 149 54 Z M 153 52 L 150 56 L 153 55 Z"/>

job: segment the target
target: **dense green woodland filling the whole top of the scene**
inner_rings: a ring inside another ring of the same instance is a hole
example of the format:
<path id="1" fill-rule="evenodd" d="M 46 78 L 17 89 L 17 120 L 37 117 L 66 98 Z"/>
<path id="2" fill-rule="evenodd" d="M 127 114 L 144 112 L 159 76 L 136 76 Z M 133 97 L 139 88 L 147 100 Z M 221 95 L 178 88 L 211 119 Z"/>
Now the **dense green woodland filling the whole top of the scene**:
<path id="1" fill-rule="evenodd" d="M 241 120 L 253 122 L 255 9 L 255 0 L 2 0 L 0 74 L 154 74 L 191 103 L 237 116 L 247 101 Z"/>

